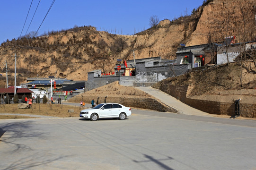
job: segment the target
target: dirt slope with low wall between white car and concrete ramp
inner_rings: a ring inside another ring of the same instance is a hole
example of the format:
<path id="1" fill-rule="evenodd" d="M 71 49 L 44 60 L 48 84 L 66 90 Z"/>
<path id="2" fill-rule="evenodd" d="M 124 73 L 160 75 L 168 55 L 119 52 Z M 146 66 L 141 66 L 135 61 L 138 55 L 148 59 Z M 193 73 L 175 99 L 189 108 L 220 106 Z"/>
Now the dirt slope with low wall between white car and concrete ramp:
<path id="1" fill-rule="evenodd" d="M 121 86 L 118 81 L 74 96 L 67 102 L 90 103 L 92 99 L 97 103 L 116 102 L 132 108 L 177 112 L 176 109 L 167 106 L 148 93 L 134 87 Z"/>

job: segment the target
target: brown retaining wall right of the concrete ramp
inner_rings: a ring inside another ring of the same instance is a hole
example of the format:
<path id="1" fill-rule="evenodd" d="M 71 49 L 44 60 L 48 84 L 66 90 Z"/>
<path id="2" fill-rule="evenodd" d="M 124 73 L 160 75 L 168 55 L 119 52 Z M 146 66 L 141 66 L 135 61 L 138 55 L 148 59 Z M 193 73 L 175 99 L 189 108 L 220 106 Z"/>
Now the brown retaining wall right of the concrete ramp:
<path id="1" fill-rule="evenodd" d="M 256 102 L 254 96 L 248 95 L 189 95 L 193 86 L 154 84 L 157 88 L 177 98 L 187 105 L 211 114 L 235 115 L 235 100 L 240 101 L 240 116 L 256 118 Z"/>

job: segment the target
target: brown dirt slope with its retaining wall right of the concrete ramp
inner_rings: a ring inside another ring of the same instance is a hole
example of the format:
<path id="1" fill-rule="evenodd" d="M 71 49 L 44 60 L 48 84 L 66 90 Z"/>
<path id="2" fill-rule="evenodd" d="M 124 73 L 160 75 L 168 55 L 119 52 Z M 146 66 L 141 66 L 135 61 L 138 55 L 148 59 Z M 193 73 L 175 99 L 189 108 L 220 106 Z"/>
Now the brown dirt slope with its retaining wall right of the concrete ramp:
<path id="1" fill-rule="evenodd" d="M 194 69 L 182 76 L 153 85 L 186 104 L 212 114 L 234 115 L 235 100 L 241 99 L 241 116 L 256 118 L 256 67 L 251 61 Z"/>

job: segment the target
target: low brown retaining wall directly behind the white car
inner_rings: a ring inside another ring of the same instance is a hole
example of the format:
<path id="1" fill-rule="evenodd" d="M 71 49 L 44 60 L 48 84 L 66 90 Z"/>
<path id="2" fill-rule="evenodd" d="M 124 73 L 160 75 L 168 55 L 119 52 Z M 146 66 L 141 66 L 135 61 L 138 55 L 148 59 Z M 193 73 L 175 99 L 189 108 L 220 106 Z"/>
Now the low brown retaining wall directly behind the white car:
<path id="1" fill-rule="evenodd" d="M 165 105 L 162 102 L 159 102 L 157 99 L 149 98 L 149 97 L 138 97 L 138 96 L 121 96 L 116 97 L 115 96 L 92 96 L 92 95 L 86 95 L 83 96 L 83 101 L 86 103 L 91 103 L 91 100 L 94 99 L 97 103 L 104 103 L 105 99 L 106 102 L 116 102 L 123 104 L 127 107 L 133 107 L 133 108 L 140 108 L 140 109 L 150 109 L 150 110 L 157 110 L 157 111 L 168 111 L 168 112 L 174 112 L 177 113 L 177 110 Z M 68 102 L 77 102 L 80 103 L 82 101 L 81 96 L 76 96 L 68 100 Z"/>

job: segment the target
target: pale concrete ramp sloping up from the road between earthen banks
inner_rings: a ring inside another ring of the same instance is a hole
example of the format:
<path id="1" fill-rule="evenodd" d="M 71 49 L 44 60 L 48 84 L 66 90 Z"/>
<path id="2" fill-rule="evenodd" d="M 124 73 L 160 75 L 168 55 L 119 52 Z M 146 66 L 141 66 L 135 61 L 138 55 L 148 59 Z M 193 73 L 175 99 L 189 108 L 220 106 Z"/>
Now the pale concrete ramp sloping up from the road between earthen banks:
<path id="1" fill-rule="evenodd" d="M 155 98 L 159 99 L 161 102 L 165 103 L 166 105 L 178 110 L 178 113 L 187 114 L 187 115 L 198 115 L 198 116 L 212 116 L 212 114 L 194 109 L 193 107 L 190 107 L 185 103 L 180 102 L 176 98 L 172 97 L 171 95 L 168 95 L 167 93 L 160 91 L 159 89 L 155 89 L 152 87 L 135 87 L 135 88 L 140 89 L 154 96 Z"/>

